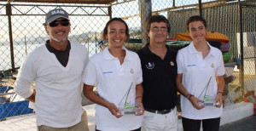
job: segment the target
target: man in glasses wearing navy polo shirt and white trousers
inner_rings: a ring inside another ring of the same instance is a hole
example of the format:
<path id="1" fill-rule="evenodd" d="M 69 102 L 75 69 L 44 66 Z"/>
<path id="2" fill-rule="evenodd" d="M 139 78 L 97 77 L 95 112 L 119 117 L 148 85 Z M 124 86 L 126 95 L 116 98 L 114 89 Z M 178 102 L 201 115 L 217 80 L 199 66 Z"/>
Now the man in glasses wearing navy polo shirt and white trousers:
<path id="1" fill-rule="evenodd" d="M 177 130 L 177 52 L 166 45 L 171 30 L 162 15 L 148 20 L 149 43 L 137 54 L 143 69 L 143 125 L 142 130 Z"/>

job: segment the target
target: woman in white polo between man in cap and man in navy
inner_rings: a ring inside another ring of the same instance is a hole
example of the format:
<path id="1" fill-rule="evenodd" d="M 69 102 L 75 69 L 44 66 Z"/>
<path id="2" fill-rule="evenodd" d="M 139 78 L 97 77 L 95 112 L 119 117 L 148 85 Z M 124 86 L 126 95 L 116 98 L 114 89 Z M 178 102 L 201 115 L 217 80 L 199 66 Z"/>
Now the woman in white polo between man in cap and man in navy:
<path id="1" fill-rule="evenodd" d="M 142 126 L 143 75 L 138 55 L 124 47 L 129 37 L 124 20 L 109 20 L 102 33 L 108 47 L 92 56 L 85 69 L 84 95 L 96 103 L 96 131 L 139 131 Z M 127 105 L 139 111 L 124 115 L 120 109 Z"/>

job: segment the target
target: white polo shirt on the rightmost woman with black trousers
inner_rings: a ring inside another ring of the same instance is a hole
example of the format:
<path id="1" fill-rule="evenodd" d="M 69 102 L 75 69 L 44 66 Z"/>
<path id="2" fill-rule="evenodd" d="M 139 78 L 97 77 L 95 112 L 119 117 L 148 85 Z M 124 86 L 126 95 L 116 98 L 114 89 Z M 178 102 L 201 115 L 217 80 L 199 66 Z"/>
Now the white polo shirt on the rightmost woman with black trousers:
<path id="1" fill-rule="evenodd" d="M 190 94 L 194 94 L 197 98 L 204 94 L 212 95 L 215 100 L 218 91 L 216 76 L 224 75 L 224 61 L 221 51 L 207 44 L 211 49 L 205 59 L 201 52 L 195 49 L 193 42 L 188 47 L 180 49 L 177 53 L 177 73 L 183 74 L 183 87 Z M 197 110 L 184 96 L 181 96 L 181 108 L 182 117 L 189 119 L 220 117 L 223 110 L 222 106 L 220 108 L 205 106 Z"/>

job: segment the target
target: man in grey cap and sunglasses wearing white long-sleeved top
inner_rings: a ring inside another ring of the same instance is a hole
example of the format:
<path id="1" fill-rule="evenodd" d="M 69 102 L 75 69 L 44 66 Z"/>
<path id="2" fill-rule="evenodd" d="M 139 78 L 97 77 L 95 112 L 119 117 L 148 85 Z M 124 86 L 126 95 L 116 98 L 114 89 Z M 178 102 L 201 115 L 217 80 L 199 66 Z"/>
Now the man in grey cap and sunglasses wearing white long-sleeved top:
<path id="1" fill-rule="evenodd" d="M 49 40 L 29 54 L 20 67 L 15 92 L 35 103 L 40 131 L 88 131 L 81 105 L 81 79 L 88 63 L 87 48 L 67 39 L 67 12 L 53 9 L 44 23 Z M 36 90 L 31 88 L 35 82 Z"/>

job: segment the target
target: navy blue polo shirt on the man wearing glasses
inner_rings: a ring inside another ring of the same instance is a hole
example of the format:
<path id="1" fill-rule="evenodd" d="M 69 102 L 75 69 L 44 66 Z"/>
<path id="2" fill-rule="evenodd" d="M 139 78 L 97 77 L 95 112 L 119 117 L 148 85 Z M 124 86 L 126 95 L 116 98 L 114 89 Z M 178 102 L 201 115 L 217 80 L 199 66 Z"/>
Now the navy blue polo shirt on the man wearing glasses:
<path id="1" fill-rule="evenodd" d="M 177 103 L 177 52 L 166 46 L 164 60 L 152 53 L 148 44 L 137 54 L 143 69 L 143 105 L 145 109 L 168 110 Z"/>

